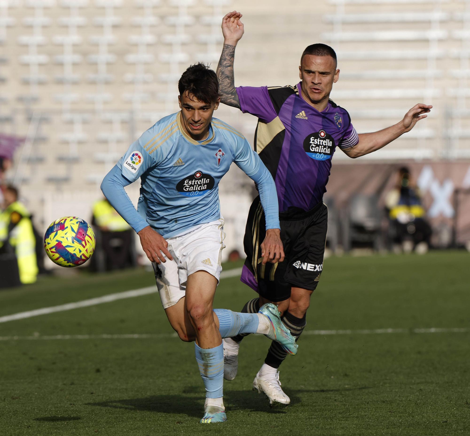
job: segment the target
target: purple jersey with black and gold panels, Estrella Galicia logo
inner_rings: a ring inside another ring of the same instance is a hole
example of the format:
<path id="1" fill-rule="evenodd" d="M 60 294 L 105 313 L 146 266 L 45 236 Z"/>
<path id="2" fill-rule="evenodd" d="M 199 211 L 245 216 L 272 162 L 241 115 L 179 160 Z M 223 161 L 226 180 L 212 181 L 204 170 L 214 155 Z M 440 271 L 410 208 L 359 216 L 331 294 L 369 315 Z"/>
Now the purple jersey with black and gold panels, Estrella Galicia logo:
<path id="1" fill-rule="evenodd" d="M 312 209 L 326 192 L 336 146 L 359 142 L 349 114 L 331 100 L 319 112 L 303 99 L 301 83 L 236 91 L 242 111 L 258 117 L 255 150 L 276 182 L 279 211 Z"/>

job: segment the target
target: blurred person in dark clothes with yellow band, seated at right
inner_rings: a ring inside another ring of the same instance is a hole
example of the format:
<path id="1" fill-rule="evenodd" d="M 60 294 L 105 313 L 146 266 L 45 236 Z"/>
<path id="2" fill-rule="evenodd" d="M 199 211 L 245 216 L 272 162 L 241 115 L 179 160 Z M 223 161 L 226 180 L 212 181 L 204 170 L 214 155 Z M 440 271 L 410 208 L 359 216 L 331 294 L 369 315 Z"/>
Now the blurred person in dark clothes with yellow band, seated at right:
<path id="1" fill-rule="evenodd" d="M 431 239 L 431 226 L 426 220 L 419 188 L 407 167 L 401 167 L 394 189 L 387 193 L 385 206 L 390 220 L 390 238 L 395 251 L 413 249 L 427 252 Z"/>

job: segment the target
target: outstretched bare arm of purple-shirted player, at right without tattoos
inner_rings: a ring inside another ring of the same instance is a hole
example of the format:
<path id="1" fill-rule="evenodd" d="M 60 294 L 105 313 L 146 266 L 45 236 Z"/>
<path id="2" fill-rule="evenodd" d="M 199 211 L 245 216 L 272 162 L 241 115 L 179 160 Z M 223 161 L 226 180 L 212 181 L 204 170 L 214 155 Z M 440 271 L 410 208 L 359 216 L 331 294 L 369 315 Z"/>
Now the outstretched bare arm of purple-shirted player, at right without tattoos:
<path id="1" fill-rule="evenodd" d="M 352 158 L 372 153 L 396 140 L 403 133 L 409 132 L 419 120 L 427 117 L 425 114 L 430 112 L 431 108 L 431 105 L 418 103 L 408 110 L 399 123 L 378 132 L 360 133 L 359 142 L 355 146 L 341 149 Z"/>

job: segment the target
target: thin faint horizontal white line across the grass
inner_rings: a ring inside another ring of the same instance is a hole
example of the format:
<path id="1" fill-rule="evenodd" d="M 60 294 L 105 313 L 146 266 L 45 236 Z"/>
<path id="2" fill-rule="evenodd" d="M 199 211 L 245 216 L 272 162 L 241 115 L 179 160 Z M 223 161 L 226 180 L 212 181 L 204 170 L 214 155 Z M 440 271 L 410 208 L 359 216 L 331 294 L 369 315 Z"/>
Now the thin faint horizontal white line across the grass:
<path id="1" fill-rule="evenodd" d="M 307 330 L 304 335 L 382 335 L 390 333 L 468 333 L 470 328 L 376 328 L 368 330 Z M 55 336 L 0 336 L 0 341 L 52 341 L 58 339 L 161 339 L 176 338 L 176 333 L 127 334 L 127 335 L 55 335 Z"/>

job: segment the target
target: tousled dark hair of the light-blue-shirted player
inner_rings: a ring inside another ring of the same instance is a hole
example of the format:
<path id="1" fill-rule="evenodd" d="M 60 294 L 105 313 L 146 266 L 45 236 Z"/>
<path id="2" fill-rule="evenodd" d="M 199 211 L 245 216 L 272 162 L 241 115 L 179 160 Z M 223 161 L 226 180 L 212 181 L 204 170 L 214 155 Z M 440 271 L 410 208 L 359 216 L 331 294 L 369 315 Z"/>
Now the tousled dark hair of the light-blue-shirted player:
<path id="1" fill-rule="evenodd" d="M 178 82 L 180 95 L 185 92 L 193 94 L 204 103 L 214 103 L 219 98 L 219 80 L 209 65 L 198 62 L 188 67 Z"/>

